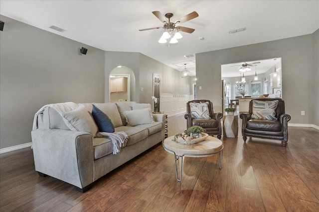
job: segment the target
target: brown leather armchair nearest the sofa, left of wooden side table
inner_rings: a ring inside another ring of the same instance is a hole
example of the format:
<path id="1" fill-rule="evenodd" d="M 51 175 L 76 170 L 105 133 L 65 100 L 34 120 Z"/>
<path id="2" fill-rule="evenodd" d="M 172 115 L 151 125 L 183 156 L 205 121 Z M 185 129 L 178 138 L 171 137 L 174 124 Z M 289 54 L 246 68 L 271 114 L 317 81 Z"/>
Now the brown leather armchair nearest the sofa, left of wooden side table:
<path id="1" fill-rule="evenodd" d="M 190 112 L 189 103 L 204 103 L 208 102 L 208 111 L 210 119 L 193 119 Z M 186 104 L 186 114 L 185 119 L 187 120 L 187 129 L 191 126 L 200 126 L 206 130 L 206 133 L 210 136 L 217 135 L 217 138 L 221 138 L 222 127 L 221 127 L 221 119 L 223 117 L 222 113 L 214 113 L 213 112 L 213 104 L 209 100 L 192 100 L 187 102 Z"/>

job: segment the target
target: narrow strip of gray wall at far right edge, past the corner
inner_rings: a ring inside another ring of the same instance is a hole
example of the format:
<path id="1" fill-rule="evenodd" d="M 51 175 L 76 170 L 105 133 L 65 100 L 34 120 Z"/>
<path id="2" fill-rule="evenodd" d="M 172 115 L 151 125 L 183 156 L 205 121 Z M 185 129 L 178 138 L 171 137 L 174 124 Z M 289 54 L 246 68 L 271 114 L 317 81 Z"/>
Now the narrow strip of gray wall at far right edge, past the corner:
<path id="1" fill-rule="evenodd" d="M 313 124 L 319 126 L 319 29 L 313 33 L 314 46 L 314 96 L 312 104 L 314 105 Z"/>

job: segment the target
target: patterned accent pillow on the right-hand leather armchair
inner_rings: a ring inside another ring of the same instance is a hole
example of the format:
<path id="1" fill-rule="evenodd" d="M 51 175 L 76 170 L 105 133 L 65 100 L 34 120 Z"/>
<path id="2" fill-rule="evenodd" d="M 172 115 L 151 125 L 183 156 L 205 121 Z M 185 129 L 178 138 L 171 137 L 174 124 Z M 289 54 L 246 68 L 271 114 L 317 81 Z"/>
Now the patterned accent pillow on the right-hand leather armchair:
<path id="1" fill-rule="evenodd" d="M 253 101 L 253 114 L 251 119 L 277 120 L 276 108 L 278 100 L 274 101 Z"/>

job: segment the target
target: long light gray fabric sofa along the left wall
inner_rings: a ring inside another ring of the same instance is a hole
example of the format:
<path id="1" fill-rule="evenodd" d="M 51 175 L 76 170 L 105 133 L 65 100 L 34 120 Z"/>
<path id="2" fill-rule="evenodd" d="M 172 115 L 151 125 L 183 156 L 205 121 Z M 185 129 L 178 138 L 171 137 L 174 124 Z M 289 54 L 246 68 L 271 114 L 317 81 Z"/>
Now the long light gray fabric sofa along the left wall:
<path id="1" fill-rule="evenodd" d="M 137 103 L 94 104 L 108 108 L 107 115 L 113 124 L 116 123 L 115 132 L 124 131 L 129 135 L 127 145 L 117 154 L 113 154 L 113 143 L 109 138 L 70 130 L 54 104 L 43 107 L 34 117 L 31 132 L 35 170 L 42 177 L 57 178 L 85 192 L 97 179 L 163 141 L 166 115 L 151 113 L 154 123 L 127 126 L 125 112 L 132 110 L 132 104 Z M 84 107 L 92 112 L 92 105 L 78 104 L 77 108 Z"/>

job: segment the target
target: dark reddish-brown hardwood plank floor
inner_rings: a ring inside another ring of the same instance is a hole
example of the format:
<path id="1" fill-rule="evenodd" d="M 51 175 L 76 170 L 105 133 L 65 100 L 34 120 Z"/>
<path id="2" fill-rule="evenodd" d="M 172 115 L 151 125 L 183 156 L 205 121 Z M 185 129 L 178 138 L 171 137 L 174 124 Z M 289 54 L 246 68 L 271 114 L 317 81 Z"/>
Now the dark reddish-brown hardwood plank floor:
<path id="1" fill-rule="evenodd" d="M 241 119 L 239 119 L 241 123 Z M 168 118 L 168 135 L 185 130 Z M 318 212 L 319 131 L 289 127 L 280 141 L 222 137 L 218 155 L 185 158 L 175 178 L 173 155 L 159 144 L 93 184 L 86 193 L 39 177 L 31 148 L 0 154 L 0 212 Z"/>

